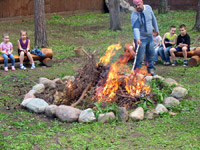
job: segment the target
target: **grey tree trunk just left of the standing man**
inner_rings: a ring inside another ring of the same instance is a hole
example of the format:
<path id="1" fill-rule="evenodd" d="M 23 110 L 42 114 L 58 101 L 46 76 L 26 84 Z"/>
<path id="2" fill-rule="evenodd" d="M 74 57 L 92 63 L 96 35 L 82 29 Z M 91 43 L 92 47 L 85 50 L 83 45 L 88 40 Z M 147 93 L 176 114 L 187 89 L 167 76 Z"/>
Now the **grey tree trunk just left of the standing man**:
<path id="1" fill-rule="evenodd" d="M 109 0 L 110 30 L 121 30 L 120 0 Z"/>

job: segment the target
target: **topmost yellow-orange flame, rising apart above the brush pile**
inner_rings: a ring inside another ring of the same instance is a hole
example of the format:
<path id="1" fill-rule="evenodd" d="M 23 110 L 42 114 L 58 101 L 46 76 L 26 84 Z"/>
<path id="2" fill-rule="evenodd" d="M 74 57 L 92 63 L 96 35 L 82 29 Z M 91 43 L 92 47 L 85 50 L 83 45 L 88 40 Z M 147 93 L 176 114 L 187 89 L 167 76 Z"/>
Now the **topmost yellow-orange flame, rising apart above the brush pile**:
<path id="1" fill-rule="evenodd" d="M 107 65 L 110 62 L 111 57 L 115 55 L 115 51 L 114 50 L 116 49 L 118 51 L 121 48 L 122 47 L 121 47 L 120 43 L 110 45 L 106 50 L 105 56 L 102 56 L 100 58 L 98 64 L 99 63 L 103 63 L 103 64 Z"/>

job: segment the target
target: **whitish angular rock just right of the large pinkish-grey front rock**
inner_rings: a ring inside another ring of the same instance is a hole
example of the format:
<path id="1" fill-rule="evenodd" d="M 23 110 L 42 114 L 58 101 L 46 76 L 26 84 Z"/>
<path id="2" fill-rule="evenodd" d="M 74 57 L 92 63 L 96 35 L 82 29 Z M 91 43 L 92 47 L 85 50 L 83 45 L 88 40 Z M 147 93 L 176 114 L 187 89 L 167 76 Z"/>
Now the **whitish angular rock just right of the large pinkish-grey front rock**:
<path id="1" fill-rule="evenodd" d="M 79 122 L 92 122 L 95 121 L 96 117 L 91 108 L 83 110 L 79 116 Z"/>

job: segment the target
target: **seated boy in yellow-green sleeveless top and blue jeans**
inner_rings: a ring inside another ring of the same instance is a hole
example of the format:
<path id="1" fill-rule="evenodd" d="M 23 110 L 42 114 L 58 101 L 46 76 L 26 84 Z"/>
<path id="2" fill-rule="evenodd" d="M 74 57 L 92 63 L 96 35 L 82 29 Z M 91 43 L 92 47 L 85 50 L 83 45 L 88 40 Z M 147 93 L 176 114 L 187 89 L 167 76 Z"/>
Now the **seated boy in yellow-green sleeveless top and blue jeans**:
<path id="1" fill-rule="evenodd" d="M 158 49 L 158 53 L 160 54 L 164 65 L 170 65 L 169 50 L 174 47 L 176 40 L 176 26 L 171 26 L 170 31 L 163 36 L 162 47 Z"/>

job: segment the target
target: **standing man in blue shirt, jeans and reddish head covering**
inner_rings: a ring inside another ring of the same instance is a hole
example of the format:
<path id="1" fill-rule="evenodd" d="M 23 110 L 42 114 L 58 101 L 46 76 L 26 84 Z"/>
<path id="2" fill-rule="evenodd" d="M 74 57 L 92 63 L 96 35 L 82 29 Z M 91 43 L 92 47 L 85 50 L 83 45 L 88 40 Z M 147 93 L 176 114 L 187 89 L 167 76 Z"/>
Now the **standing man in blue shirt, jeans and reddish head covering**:
<path id="1" fill-rule="evenodd" d="M 137 48 L 140 45 L 134 69 L 138 71 L 141 68 L 144 55 L 146 54 L 147 70 L 154 75 L 153 29 L 159 34 L 156 17 L 151 6 L 144 5 L 143 0 L 133 0 L 133 7 L 135 8 L 131 15 L 134 33 L 133 46 L 136 44 L 135 47 Z"/>

